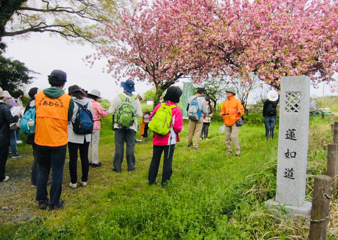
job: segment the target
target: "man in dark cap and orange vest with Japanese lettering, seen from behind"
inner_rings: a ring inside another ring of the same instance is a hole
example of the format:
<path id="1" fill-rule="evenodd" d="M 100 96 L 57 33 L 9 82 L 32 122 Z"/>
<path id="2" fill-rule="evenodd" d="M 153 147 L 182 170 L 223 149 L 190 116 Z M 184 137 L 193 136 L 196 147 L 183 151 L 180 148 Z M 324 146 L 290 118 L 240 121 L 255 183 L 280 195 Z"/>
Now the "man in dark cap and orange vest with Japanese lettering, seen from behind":
<path id="1" fill-rule="evenodd" d="M 74 101 L 63 90 L 67 74 L 53 70 L 48 76 L 50 88 L 38 92 L 35 96 L 36 130 L 34 142 L 37 144 L 39 174 L 37 195 L 40 209 L 48 211 L 60 208 L 63 181 L 63 169 L 68 143 L 68 122 L 74 110 Z M 52 169 L 50 200 L 48 199 L 47 181 Z"/>

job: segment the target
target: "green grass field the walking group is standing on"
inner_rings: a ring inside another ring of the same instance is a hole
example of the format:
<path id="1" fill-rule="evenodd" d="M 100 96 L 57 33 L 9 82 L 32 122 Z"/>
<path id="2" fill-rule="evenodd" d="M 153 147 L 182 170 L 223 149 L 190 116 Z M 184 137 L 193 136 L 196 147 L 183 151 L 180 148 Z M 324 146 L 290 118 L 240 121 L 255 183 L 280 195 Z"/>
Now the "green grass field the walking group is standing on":
<path id="1" fill-rule="evenodd" d="M 333 136 L 329 118 L 310 117 L 310 201 L 313 176 L 325 174 L 326 146 Z M 136 144 L 136 171 L 128 172 L 125 160 L 121 173 L 112 171 L 114 132 L 108 116 L 100 136 L 103 166 L 90 168 L 88 187 L 71 190 L 67 156 L 61 196 L 65 206 L 51 212 L 40 210 L 34 201 L 32 149 L 20 144 L 18 151 L 24 156 L 8 159 L 10 180 L 0 183 L 0 239 L 307 239 L 308 218 L 294 222 L 264 204 L 275 195 L 278 125 L 276 137 L 267 141 L 261 114 L 250 113 L 246 120 L 239 133 L 239 157 L 225 156 L 220 121 L 211 122 L 210 140 L 200 141 L 200 150 L 186 148 L 185 120 L 175 146 L 171 182 L 163 188 L 148 186 L 151 137 Z M 158 181 L 161 167 L 162 161 Z M 78 181 L 80 170 L 78 164 Z M 338 237 L 337 205 L 332 199 L 328 239 Z"/>

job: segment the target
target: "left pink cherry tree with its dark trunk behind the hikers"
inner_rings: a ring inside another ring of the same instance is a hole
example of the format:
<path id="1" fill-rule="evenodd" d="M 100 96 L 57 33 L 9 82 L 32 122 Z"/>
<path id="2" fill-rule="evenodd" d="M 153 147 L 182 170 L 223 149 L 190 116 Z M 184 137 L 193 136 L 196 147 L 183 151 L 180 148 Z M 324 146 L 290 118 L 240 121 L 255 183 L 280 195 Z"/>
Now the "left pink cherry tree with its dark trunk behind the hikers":
<path id="1" fill-rule="evenodd" d="M 147 1 L 138 5 L 134 12 L 121 10 L 120 23 L 107 23 L 97 32 L 110 45 L 103 45 L 98 52 L 86 57 L 90 64 L 102 57 L 107 58 L 107 73 L 112 73 L 116 83 L 122 78 L 147 81 L 156 88 L 154 105 L 172 84 L 178 82 L 207 61 L 201 56 L 199 29 L 189 31 L 192 22 L 189 14 L 210 15 L 208 9 L 190 13 L 180 1 Z M 197 6 L 194 6 L 197 7 Z M 198 55 L 199 54 L 199 55 Z"/>

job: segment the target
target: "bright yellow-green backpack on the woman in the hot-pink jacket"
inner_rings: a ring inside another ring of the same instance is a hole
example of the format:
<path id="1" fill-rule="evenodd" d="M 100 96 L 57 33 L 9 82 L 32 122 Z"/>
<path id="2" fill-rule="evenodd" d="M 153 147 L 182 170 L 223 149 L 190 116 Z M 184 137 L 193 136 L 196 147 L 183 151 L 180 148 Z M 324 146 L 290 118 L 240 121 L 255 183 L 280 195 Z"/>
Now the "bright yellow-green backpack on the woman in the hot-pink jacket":
<path id="1" fill-rule="evenodd" d="M 161 107 L 151 117 L 148 124 L 149 129 L 154 133 L 167 135 L 171 128 L 172 109 L 176 107 L 176 105 L 167 106 L 166 103 L 162 103 Z"/>

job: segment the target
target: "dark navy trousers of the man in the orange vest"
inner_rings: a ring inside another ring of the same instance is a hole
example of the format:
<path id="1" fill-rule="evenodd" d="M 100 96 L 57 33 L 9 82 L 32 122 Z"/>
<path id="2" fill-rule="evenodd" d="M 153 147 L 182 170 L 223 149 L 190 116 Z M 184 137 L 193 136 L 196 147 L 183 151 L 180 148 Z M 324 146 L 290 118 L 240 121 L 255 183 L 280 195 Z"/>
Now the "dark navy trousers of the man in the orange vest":
<path id="1" fill-rule="evenodd" d="M 37 196 L 35 200 L 47 200 L 47 181 L 52 169 L 52 184 L 50 187 L 50 203 L 59 204 L 61 191 L 62 191 L 62 180 L 63 180 L 63 169 L 66 160 L 67 144 L 59 147 L 49 147 L 37 145 L 38 153 L 38 164 L 39 174 L 37 181 Z"/>

